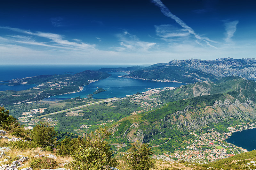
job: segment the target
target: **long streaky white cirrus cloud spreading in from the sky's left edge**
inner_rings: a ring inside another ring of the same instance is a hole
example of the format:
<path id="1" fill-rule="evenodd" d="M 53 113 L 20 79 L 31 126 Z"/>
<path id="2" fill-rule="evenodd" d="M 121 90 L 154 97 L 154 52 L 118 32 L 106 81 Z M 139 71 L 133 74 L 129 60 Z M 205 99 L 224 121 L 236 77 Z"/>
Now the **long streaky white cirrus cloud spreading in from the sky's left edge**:
<path id="1" fill-rule="evenodd" d="M 19 43 L 25 43 L 25 44 L 30 44 L 30 45 L 40 45 L 40 46 L 45 46 L 45 47 L 53 47 L 53 48 L 67 48 L 67 49 L 79 49 L 79 50 L 89 50 L 89 49 L 95 49 L 95 44 L 86 44 L 84 42 L 72 42 L 68 40 L 64 40 L 62 35 L 55 34 L 55 33 L 44 33 L 44 32 L 31 32 L 29 30 L 23 30 L 19 28 L 12 28 L 12 27 L 5 27 L 5 26 L 0 26 L 2 29 L 9 29 L 15 32 L 19 33 L 24 33 L 24 34 L 29 34 L 33 36 L 38 36 L 42 38 L 49 39 L 51 41 L 48 42 L 36 42 L 33 40 L 33 37 L 27 36 L 27 39 L 25 41 L 24 38 L 26 36 L 12 36 L 13 38 L 16 38 L 16 40 L 12 40 L 14 42 L 19 42 Z"/>

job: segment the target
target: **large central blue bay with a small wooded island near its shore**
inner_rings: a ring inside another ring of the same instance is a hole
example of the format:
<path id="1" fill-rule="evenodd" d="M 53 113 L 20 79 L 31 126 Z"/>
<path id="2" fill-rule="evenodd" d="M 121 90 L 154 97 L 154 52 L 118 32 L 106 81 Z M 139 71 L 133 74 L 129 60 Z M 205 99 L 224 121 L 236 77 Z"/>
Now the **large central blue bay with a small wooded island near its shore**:
<path id="1" fill-rule="evenodd" d="M 106 99 L 112 97 L 125 97 L 137 92 L 148 91 L 148 88 L 162 88 L 162 87 L 178 87 L 183 85 L 182 83 L 171 83 L 171 82 L 157 82 L 149 80 L 138 80 L 132 78 L 119 77 L 125 75 L 124 72 L 111 72 L 112 76 L 93 82 L 89 85 L 85 85 L 81 92 L 53 96 L 48 99 L 70 99 L 74 97 L 86 97 L 88 94 L 92 94 L 98 88 L 103 88 L 105 92 L 94 94 L 93 98 Z"/>

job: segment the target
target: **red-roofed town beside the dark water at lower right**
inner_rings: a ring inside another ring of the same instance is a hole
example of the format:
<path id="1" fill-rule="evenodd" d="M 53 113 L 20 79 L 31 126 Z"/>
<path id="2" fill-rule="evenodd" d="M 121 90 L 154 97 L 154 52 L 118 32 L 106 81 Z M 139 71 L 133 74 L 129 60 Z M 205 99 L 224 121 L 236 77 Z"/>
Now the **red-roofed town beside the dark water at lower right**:
<path id="1" fill-rule="evenodd" d="M 195 136 L 187 141 L 190 144 L 186 148 L 178 148 L 174 153 L 166 152 L 163 155 L 173 160 L 185 160 L 195 163 L 213 162 L 218 159 L 228 158 L 239 153 L 248 152 L 242 147 L 228 143 L 225 140 L 234 132 L 242 131 L 245 129 L 255 128 L 255 123 L 237 125 L 239 128 L 228 127 L 229 132 L 220 133 L 217 131 L 209 130 L 205 133 L 190 132 L 190 135 Z"/>

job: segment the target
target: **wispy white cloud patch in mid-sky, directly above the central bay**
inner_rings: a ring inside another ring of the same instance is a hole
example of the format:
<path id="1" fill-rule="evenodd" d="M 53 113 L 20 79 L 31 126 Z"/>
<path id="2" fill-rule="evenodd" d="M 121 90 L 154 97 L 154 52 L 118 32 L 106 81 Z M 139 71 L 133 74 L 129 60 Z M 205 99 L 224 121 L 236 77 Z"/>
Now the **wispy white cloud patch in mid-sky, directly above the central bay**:
<path id="1" fill-rule="evenodd" d="M 132 35 L 127 31 L 124 31 L 124 33 L 122 34 L 117 34 L 116 36 L 119 38 L 119 41 L 121 41 L 120 45 L 124 47 L 124 48 L 118 48 L 119 50 L 129 49 L 129 50 L 142 50 L 145 52 L 156 45 L 156 43 L 154 42 L 140 41 L 140 39 L 136 35 Z"/>

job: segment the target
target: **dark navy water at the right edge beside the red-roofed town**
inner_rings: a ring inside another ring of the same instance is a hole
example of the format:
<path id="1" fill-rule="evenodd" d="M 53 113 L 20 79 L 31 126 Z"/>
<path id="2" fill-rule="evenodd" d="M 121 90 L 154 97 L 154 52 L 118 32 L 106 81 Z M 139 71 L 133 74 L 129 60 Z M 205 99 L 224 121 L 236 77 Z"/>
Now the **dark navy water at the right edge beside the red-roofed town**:
<path id="1" fill-rule="evenodd" d="M 228 143 L 252 151 L 256 149 L 256 128 L 246 129 L 240 132 L 234 132 L 232 136 L 226 140 Z"/>

